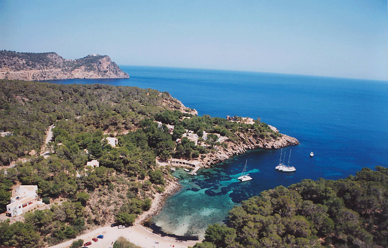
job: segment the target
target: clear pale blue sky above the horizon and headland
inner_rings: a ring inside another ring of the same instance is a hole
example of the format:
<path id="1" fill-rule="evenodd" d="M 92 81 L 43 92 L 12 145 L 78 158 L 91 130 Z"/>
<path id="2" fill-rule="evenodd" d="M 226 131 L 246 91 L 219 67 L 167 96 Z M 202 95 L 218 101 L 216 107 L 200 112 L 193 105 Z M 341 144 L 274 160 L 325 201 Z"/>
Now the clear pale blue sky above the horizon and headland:
<path id="1" fill-rule="evenodd" d="M 387 0 L 0 0 L 0 50 L 388 80 Z"/>

